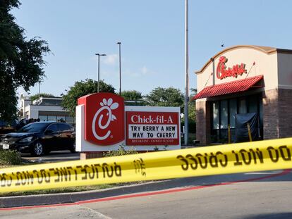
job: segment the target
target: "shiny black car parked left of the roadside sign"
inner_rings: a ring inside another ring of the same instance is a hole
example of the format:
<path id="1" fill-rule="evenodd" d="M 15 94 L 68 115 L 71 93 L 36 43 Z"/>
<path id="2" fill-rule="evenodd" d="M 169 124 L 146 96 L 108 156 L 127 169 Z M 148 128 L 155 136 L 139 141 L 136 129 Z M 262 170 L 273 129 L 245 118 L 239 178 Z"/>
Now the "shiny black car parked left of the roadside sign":
<path id="1" fill-rule="evenodd" d="M 34 156 L 50 151 L 75 152 L 75 129 L 67 123 L 37 122 L 23 126 L 18 132 L 5 134 L 0 148 L 15 149 Z"/>

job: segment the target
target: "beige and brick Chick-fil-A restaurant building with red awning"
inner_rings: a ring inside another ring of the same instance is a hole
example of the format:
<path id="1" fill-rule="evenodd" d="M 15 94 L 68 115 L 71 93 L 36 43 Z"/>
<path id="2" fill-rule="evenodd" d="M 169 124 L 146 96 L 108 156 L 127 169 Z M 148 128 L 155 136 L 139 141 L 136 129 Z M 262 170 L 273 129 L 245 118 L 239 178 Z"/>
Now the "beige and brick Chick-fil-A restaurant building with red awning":
<path id="1" fill-rule="evenodd" d="M 292 50 L 231 46 L 195 72 L 196 138 L 236 139 L 240 115 L 257 115 L 258 139 L 292 136 Z"/>

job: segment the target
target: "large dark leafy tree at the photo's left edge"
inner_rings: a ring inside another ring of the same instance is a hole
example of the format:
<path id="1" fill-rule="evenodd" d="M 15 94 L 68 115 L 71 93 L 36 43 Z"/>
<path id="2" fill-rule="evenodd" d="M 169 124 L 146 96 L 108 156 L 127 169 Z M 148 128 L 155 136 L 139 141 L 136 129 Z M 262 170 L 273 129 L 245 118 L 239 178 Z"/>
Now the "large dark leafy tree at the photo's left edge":
<path id="1" fill-rule="evenodd" d="M 16 117 L 16 89 L 28 91 L 44 77 L 43 56 L 49 52 L 47 42 L 27 39 L 15 23 L 10 11 L 18 6 L 18 0 L 0 1 L 0 118 L 6 121 Z"/>

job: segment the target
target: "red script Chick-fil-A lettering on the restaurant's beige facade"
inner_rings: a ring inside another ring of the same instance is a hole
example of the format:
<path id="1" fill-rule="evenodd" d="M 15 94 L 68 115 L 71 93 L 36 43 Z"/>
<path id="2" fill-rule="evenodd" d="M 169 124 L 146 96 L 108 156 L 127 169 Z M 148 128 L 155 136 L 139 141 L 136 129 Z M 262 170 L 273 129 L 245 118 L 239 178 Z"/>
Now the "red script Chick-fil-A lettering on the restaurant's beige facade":
<path id="1" fill-rule="evenodd" d="M 232 68 L 226 69 L 225 63 L 228 59 L 225 56 L 221 56 L 219 58 L 219 63 L 217 65 L 216 75 L 219 79 L 224 79 L 225 77 L 237 77 L 238 75 L 243 75 L 243 73 L 247 73 L 245 69 L 245 64 L 241 63 L 241 65 L 233 65 Z"/>

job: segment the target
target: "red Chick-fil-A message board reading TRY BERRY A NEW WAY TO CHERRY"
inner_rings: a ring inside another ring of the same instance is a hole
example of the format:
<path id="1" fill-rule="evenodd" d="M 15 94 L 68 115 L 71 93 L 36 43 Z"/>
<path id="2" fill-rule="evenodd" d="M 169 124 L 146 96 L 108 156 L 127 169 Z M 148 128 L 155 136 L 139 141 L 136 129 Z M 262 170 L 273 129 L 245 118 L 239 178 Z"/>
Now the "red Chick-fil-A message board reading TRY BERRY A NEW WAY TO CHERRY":
<path id="1" fill-rule="evenodd" d="M 179 144 L 179 113 L 126 112 L 127 145 Z"/>

